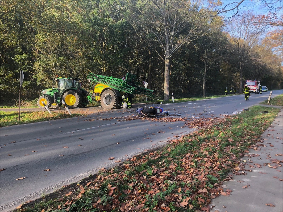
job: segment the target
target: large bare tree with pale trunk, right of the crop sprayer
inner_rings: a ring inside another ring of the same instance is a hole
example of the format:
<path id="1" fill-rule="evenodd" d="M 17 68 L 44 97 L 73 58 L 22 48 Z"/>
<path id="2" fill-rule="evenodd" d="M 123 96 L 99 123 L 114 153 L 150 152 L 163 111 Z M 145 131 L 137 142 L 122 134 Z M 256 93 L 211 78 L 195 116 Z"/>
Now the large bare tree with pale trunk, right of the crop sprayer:
<path id="1" fill-rule="evenodd" d="M 238 8 L 245 0 L 234 2 L 219 10 L 219 1 L 206 0 L 140 0 L 132 1 L 134 10 L 140 14 L 133 26 L 143 25 L 158 42 L 163 52 L 155 51 L 164 61 L 164 101 L 169 100 L 170 64 L 173 55 L 181 47 L 209 33 L 211 23 L 218 14 Z M 152 38 L 152 36 L 149 36 Z"/>

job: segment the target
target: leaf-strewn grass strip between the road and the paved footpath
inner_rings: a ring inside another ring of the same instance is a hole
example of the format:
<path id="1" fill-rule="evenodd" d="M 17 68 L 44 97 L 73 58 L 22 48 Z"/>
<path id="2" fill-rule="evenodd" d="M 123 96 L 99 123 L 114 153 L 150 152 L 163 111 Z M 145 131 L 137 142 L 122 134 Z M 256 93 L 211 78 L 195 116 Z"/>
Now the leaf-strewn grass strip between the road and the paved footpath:
<path id="1" fill-rule="evenodd" d="M 279 111 L 254 106 L 233 116 L 187 120 L 184 128 L 198 130 L 111 170 L 102 168 L 18 211 L 209 211 L 212 198 L 232 192 L 221 187 L 231 179 L 228 173 L 248 171 L 240 158 L 264 145 L 257 144 L 263 142 L 260 135 Z"/>

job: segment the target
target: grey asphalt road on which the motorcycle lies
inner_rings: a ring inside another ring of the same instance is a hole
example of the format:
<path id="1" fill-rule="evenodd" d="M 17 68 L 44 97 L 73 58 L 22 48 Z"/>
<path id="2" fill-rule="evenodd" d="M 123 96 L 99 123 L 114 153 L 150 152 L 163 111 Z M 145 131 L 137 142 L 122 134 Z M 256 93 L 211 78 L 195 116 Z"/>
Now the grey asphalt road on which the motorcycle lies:
<path id="1" fill-rule="evenodd" d="M 283 90 L 275 90 L 272 97 L 282 93 Z M 213 117 L 240 113 L 268 96 L 269 92 L 252 94 L 245 101 L 244 95 L 229 95 L 158 106 L 173 117 Z M 0 171 L 0 211 L 14 209 L 27 200 L 95 174 L 102 167 L 116 165 L 115 161 L 192 131 L 183 127 L 182 121 L 127 120 L 135 108 L 137 105 L 111 111 L 84 108 L 80 110 L 91 110 L 92 114 L 0 127 L 0 169 L 5 168 Z"/>

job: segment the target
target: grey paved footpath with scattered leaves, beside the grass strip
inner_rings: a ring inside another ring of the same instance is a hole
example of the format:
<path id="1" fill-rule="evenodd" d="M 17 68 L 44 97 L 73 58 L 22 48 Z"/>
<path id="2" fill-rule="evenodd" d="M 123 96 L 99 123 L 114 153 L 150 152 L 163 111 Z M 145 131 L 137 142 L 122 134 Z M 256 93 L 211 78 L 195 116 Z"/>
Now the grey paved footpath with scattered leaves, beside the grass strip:
<path id="1" fill-rule="evenodd" d="M 230 196 L 213 199 L 210 212 L 283 212 L 283 109 L 260 140 L 241 158 L 245 174 L 224 182 Z"/>

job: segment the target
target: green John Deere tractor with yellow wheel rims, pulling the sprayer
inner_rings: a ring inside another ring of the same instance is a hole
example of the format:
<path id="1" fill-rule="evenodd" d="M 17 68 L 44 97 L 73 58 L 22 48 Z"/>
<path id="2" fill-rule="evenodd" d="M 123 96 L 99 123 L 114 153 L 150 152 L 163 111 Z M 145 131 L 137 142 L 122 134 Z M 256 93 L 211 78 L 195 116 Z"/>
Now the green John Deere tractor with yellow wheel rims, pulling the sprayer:
<path id="1" fill-rule="evenodd" d="M 68 108 L 85 107 L 89 103 L 88 92 L 81 88 L 80 79 L 75 77 L 57 77 L 58 88 L 42 90 L 42 95 L 38 98 L 38 107 L 44 109 L 57 108 L 65 101 Z M 44 102 L 44 104 L 42 103 Z"/>

